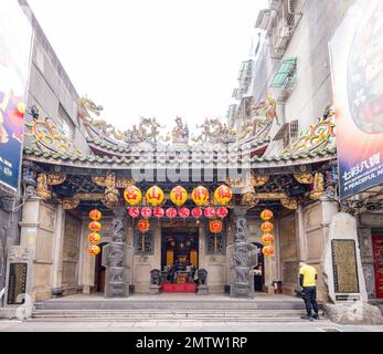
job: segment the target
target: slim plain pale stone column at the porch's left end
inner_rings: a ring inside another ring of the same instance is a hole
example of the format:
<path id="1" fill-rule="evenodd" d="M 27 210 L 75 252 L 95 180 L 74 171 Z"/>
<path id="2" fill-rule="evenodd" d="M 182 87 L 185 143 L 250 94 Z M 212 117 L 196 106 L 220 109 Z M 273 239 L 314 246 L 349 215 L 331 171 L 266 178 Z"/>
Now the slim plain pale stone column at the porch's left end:
<path id="1" fill-rule="evenodd" d="M 62 278 L 63 278 L 63 246 L 65 232 L 65 211 L 62 205 L 56 209 L 56 221 L 54 230 L 54 249 L 53 249 L 53 280 L 52 280 L 52 294 L 55 298 L 63 295 Z"/>

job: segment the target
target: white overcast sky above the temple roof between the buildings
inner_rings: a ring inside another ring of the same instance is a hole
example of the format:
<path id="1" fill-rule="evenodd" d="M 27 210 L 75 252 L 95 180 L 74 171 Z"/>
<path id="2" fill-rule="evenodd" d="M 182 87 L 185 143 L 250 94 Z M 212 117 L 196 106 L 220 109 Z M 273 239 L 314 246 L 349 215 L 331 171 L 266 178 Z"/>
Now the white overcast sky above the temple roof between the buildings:
<path id="1" fill-rule="evenodd" d="M 77 92 L 120 128 L 225 117 L 267 0 L 29 0 Z"/>

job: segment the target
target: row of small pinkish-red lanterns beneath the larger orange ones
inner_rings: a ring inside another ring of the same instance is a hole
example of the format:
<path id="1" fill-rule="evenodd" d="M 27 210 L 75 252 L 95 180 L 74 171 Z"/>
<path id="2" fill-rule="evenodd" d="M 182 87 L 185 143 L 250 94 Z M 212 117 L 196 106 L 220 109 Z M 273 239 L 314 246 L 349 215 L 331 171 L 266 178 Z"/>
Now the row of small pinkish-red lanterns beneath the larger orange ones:
<path id="1" fill-rule="evenodd" d="M 208 207 L 204 210 L 201 207 L 195 207 L 193 209 L 189 209 L 187 207 L 180 207 L 178 210 L 175 208 L 168 208 L 163 209 L 162 207 L 156 207 L 155 209 L 151 209 L 150 207 L 131 207 L 128 209 L 128 216 L 132 219 L 137 219 L 139 217 L 142 217 L 145 219 L 150 219 L 151 217 L 155 217 L 157 219 L 162 219 L 164 217 L 169 219 L 174 219 L 178 216 L 181 219 L 188 219 L 190 216 L 194 219 L 200 219 L 202 216 L 206 217 L 208 219 L 212 220 L 216 217 L 223 220 L 228 215 L 228 210 L 226 207 L 220 207 L 220 208 L 213 208 Z"/>

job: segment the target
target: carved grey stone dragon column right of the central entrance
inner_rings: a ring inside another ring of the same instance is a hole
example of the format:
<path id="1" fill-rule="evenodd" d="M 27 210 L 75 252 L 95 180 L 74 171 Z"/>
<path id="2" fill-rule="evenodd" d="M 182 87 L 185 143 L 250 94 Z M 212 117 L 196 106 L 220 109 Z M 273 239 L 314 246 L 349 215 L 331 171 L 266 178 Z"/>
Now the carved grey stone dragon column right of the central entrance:
<path id="1" fill-rule="evenodd" d="M 247 207 L 234 208 L 234 244 L 227 247 L 230 263 L 230 295 L 232 298 L 253 296 L 251 270 L 257 264 L 256 247 L 247 242 Z"/>

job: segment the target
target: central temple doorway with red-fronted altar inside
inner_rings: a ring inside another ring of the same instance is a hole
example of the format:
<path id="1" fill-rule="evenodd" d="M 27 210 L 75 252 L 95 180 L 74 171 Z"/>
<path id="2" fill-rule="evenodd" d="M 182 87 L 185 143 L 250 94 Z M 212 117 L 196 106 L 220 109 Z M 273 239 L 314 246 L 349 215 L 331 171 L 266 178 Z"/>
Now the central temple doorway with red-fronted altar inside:
<path id="1" fill-rule="evenodd" d="M 161 271 L 163 292 L 195 292 L 199 268 L 199 229 L 163 228 Z"/>

